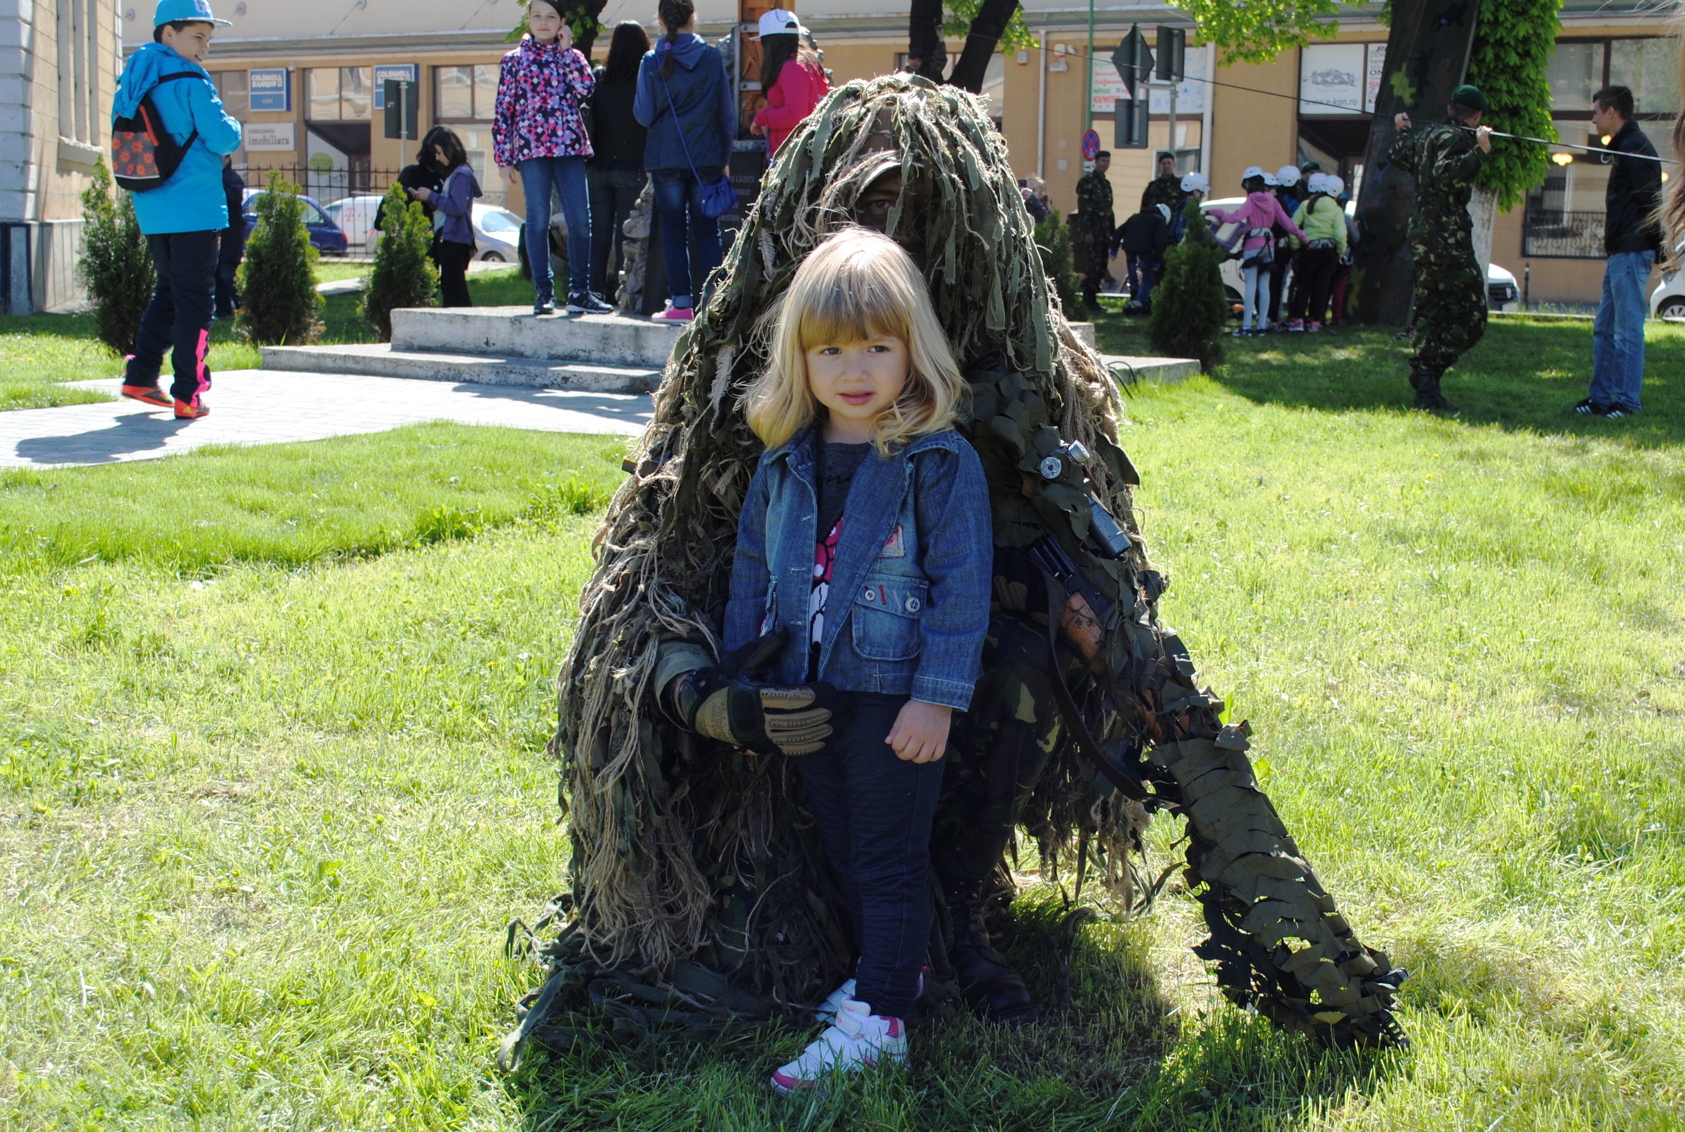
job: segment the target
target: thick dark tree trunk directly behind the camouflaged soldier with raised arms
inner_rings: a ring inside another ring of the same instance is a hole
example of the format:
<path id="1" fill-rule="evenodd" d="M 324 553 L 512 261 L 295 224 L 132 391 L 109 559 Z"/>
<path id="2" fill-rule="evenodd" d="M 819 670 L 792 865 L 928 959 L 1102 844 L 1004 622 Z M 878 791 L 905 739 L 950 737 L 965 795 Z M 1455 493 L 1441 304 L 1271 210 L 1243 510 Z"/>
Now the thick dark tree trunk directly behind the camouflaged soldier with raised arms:
<path id="1" fill-rule="evenodd" d="M 1415 182 L 1387 160 L 1397 138 L 1392 118 L 1404 111 L 1414 125 L 1426 126 L 1446 116 L 1451 91 L 1468 71 L 1478 15 L 1479 0 L 1393 0 L 1387 66 L 1358 195 L 1363 239 L 1351 290 L 1360 322 L 1404 325 L 1410 317 L 1415 270 L 1405 231 Z"/>

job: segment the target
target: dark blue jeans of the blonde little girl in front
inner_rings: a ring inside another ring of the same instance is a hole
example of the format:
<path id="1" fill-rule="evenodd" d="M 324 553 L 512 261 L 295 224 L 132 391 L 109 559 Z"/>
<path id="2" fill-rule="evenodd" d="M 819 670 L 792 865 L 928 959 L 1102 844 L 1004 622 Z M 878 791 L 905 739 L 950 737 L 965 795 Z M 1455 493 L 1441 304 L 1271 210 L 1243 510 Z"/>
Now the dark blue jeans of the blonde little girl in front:
<path id="1" fill-rule="evenodd" d="M 947 766 L 903 761 L 885 743 L 905 702 L 849 692 L 826 750 L 795 760 L 854 920 L 854 997 L 890 1017 L 913 1009 L 930 952 L 930 822 Z"/>

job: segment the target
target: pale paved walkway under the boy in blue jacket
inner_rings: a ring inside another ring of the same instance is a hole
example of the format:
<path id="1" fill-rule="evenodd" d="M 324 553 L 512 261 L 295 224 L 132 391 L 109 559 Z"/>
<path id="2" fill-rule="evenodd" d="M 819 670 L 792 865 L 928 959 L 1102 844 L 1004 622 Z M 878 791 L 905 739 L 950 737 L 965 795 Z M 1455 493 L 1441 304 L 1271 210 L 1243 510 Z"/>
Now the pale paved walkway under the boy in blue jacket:
<path id="1" fill-rule="evenodd" d="M 120 384 L 86 382 L 111 394 Z M 0 467 L 152 460 L 201 445 L 325 440 L 425 421 L 637 435 L 650 418 L 647 396 L 259 369 L 217 374 L 206 403 L 211 414 L 197 421 L 136 401 L 0 413 Z"/>

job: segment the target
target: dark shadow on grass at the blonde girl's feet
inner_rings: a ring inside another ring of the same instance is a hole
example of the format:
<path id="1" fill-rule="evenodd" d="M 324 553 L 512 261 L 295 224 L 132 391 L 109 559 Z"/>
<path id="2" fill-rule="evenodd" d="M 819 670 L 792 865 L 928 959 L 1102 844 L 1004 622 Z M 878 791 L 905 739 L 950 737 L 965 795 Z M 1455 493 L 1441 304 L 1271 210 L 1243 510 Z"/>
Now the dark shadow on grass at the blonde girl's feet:
<path id="1" fill-rule="evenodd" d="M 1019 903 L 999 943 L 1046 1006 L 1004 1029 L 960 1011 L 912 1028 L 905 1071 L 778 1097 L 772 1071 L 819 1033 L 784 1023 L 706 1043 L 541 1053 L 509 1081 L 551 1129 L 1276 1129 L 1368 1092 L 1399 1055 L 1331 1053 L 1218 1006 L 1178 1011 L 1141 923 L 1089 923 L 1068 965 L 1063 908 Z"/>

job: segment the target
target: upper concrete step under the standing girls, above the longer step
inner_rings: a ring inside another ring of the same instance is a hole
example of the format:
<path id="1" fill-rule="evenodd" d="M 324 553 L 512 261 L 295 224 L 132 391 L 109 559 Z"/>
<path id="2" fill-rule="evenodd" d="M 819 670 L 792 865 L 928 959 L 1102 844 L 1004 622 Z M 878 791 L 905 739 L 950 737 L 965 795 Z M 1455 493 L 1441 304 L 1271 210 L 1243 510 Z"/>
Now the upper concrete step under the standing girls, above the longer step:
<path id="1" fill-rule="evenodd" d="M 679 323 L 639 315 L 534 317 L 531 307 L 421 307 L 393 312 L 393 350 L 659 371 L 681 330 Z"/>

